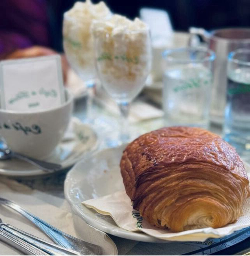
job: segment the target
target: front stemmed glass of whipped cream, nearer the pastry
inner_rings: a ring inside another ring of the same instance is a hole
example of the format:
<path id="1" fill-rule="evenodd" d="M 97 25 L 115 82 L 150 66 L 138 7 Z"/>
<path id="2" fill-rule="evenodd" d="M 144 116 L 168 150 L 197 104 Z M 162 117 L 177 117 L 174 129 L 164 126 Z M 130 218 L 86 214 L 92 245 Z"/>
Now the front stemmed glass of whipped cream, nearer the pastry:
<path id="1" fill-rule="evenodd" d="M 120 140 L 125 143 L 130 140 L 130 103 L 145 85 L 151 68 L 149 28 L 138 18 L 132 21 L 115 14 L 107 20 L 94 21 L 91 31 L 98 77 L 119 106 L 123 120 Z"/>

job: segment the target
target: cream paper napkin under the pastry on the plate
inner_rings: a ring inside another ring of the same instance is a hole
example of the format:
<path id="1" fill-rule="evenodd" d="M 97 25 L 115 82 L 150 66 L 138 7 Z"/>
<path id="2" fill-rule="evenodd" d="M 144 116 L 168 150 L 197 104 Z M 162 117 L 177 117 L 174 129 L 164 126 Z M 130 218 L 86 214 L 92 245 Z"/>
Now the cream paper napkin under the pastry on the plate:
<path id="1" fill-rule="evenodd" d="M 245 163 L 248 177 L 250 177 L 250 167 Z M 132 202 L 126 194 L 125 190 L 115 192 L 111 195 L 89 199 L 83 202 L 84 206 L 93 208 L 102 215 L 111 216 L 117 226 L 128 231 L 142 231 L 156 238 L 170 241 L 199 241 L 203 242 L 207 238 L 220 238 L 230 235 L 234 231 L 250 226 L 250 198 L 245 201 L 243 206 L 243 215 L 232 224 L 225 227 L 213 229 L 211 227 L 202 229 L 193 229 L 182 232 L 171 232 L 170 230 L 159 229 L 151 226 L 139 212 L 134 210 Z"/>

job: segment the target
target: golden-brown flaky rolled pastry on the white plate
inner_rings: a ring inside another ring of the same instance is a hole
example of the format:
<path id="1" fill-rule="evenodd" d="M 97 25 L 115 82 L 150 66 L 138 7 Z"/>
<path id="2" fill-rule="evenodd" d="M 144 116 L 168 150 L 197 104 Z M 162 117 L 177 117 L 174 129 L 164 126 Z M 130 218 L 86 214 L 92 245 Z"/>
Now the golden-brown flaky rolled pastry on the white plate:
<path id="1" fill-rule="evenodd" d="M 134 209 L 174 232 L 234 222 L 249 195 L 243 162 L 218 135 L 166 127 L 127 145 L 121 175 Z"/>

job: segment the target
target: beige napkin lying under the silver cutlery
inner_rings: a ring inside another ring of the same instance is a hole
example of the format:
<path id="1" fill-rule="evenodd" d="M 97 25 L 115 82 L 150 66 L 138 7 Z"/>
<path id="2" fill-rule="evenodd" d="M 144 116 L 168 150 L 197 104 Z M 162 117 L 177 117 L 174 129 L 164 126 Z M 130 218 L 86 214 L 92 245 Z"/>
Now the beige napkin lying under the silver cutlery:
<path id="1" fill-rule="evenodd" d="M 73 215 L 70 213 L 70 207 L 64 199 L 32 190 L 23 184 L 5 178 L 1 178 L 0 191 L 1 197 L 16 202 L 52 226 L 86 242 L 101 246 L 104 254 L 117 254 L 116 245 L 104 232 L 89 226 L 81 219 L 76 220 L 75 218 L 74 221 L 79 222 L 80 231 L 74 229 Z M 48 236 L 42 233 L 29 220 L 1 205 L 0 218 L 4 223 L 11 224 L 27 233 L 50 241 Z M 0 255 L 22 255 L 22 253 L 0 241 Z"/>

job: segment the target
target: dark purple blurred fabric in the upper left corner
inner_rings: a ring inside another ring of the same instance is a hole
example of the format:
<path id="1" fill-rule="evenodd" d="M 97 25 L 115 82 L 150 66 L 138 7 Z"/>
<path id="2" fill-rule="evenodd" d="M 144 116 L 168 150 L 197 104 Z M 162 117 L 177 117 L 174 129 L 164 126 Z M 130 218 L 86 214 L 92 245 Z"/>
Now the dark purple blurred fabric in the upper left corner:
<path id="1" fill-rule="evenodd" d="M 49 43 L 45 0 L 0 0 L 0 56 Z"/>

